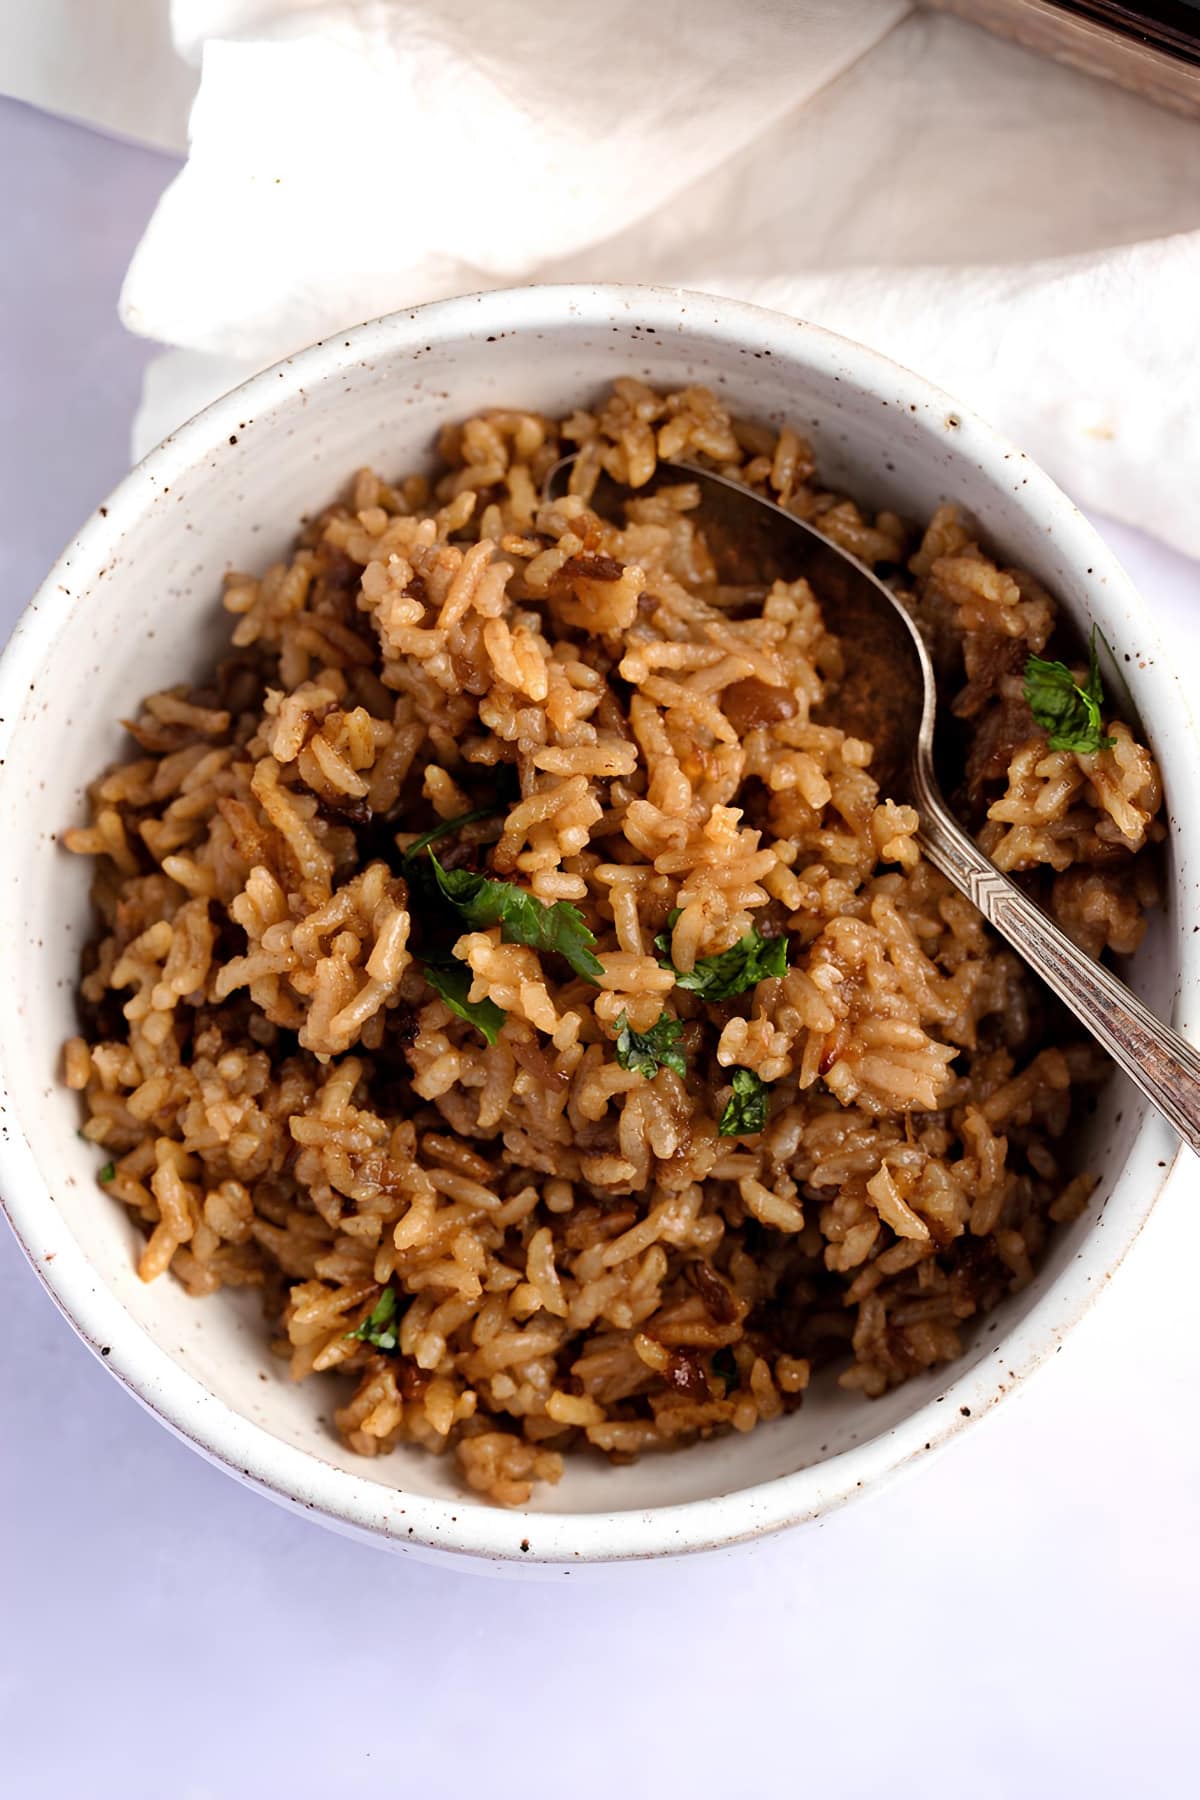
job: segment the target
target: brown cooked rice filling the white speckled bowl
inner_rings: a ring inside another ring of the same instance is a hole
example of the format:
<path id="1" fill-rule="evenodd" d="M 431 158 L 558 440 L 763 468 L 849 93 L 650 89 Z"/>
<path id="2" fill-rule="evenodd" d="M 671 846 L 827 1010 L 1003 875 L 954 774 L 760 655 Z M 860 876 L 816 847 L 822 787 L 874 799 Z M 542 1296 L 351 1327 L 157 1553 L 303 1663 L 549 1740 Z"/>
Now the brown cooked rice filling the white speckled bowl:
<path id="1" fill-rule="evenodd" d="M 1092 954 L 1142 934 L 1160 783 L 1117 722 L 1114 749 L 1047 749 L 1020 675 L 1054 603 L 954 508 L 919 538 L 865 517 L 703 389 L 489 412 L 439 454 L 432 486 L 360 472 L 290 563 L 230 576 L 228 657 L 128 722 L 139 754 L 65 837 L 99 918 L 65 1076 L 146 1280 L 261 1287 L 291 1373 L 345 1384 L 353 1449 L 453 1449 L 518 1505 L 578 1447 L 748 1431 L 820 1364 L 880 1395 L 955 1357 L 1085 1208 L 1069 1125 L 1106 1067 L 833 722 L 820 596 L 718 587 L 685 475 L 601 522 L 599 472 L 694 459 L 907 567 L 957 805 Z M 506 774 L 518 797 L 437 853 L 578 905 L 603 974 L 464 931 L 471 1001 L 507 1013 L 489 1046 L 423 974 L 403 848 Z M 687 972 L 752 927 L 792 967 L 714 1004 L 653 945 Z M 685 1078 L 621 1067 L 621 1015 L 664 1012 Z M 770 1118 L 725 1138 L 736 1067 Z M 389 1283 L 380 1350 L 353 1332 Z"/>

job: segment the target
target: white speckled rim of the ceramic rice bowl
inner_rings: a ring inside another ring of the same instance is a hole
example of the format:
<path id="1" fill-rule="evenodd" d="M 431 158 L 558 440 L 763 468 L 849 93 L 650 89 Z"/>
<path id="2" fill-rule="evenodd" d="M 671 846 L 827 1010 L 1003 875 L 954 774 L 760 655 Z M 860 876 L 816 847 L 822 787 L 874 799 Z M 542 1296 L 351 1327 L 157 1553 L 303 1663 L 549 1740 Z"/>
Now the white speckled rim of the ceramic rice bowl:
<path id="1" fill-rule="evenodd" d="M 425 342 L 444 344 L 455 337 L 477 337 L 484 322 L 498 333 L 561 328 L 572 319 L 588 328 L 622 317 L 630 324 L 676 331 L 680 315 L 685 317 L 689 308 L 694 308 L 709 338 L 725 340 L 734 347 L 795 356 L 819 374 L 837 373 L 844 380 L 849 376 L 860 391 L 889 394 L 892 401 L 900 400 L 914 410 L 936 409 L 941 416 L 954 412 L 964 427 L 964 436 L 966 428 L 970 430 L 972 448 L 984 477 L 997 486 L 1004 479 L 1004 463 L 1018 454 L 950 396 L 876 351 L 819 326 L 739 301 L 678 288 L 540 286 L 435 301 L 412 311 L 389 313 L 284 358 L 205 407 L 151 450 L 104 506 L 97 508 L 47 576 L 0 657 L 0 756 L 20 715 L 20 698 L 31 679 L 43 673 L 43 659 L 63 626 L 63 590 L 85 589 L 88 576 L 112 560 L 122 535 L 151 504 L 155 493 L 228 443 L 239 419 L 270 414 L 281 398 L 299 389 L 311 391 L 313 385 L 336 378 L 363 358 L 378 358 Z M 1022 473 L 1025 509 L 1052 524 L 1060 553 L 1069 563 L 1092 567 L 1110 583 L 1119 603 L 1137 619 L 1142 641 L 1155 644 L 1157 634 L 1141 599 L 1092 526 L 1054 482 L 1024 457 Z M 49 605 L 50 599 L 54 605 Z M 1168 659 L 1160 655 L 1155 655 L 1153 684 L 1155 706 L 1168 715 L 1162 736 L 1169 734 L 1168 727 L 1178 727 L 1195 743 L 1195 724 L 1184 688 Z M 1184 934 L 1177 1008 L 1191 1010 L 1198 997 L 1200 936 Z M 13 1053 L 20 1055 L 11 1021 L 0 1022 L 0 1051 L 7 1035 Z M 157 1418 L 237 1480 L 284 1505 L 311 1512 L 338 1530 L 376 1543 L 385 1541 L 398 1550 L 450 1552 L 522 1566 L 531 1562 L 570 1566 L 711 1550 L 817 1519 L 878 1489 L 898 1471 L 973 1424 L 1052 1355 L 1063 1334 L 1083 1316 L 1123 1260 L 1180 1154 L 1178 1147 L 1173 1156 L 1166 1154 L 1159 1181 L 1146 1186 L 1141 1206 L 1130 1213 L 1123 1235 L 1112 1231 L 1103 1237 L 1092 1235 L 1087 1240 L 1090 1255 L 1081 1253 L 1070 1262 L 1038 1305 L 997 1339 L 995 1348 L 1002 1352 L 1000 1355 L 981 1359 L 900 1424 L 865 1444 L 793 1474 L 702 1501 L 644 1512 L 509 1512 L 466 1498 L 434 1498 L 381 1487 L 365 1474 L 347 1472 L 311 1451 L 284 1444 L 212 1395 L 157 1345 L 99 1282 L 54 1206 L 20 1120 L 13 1114 L 2 1067 L 0 1103 L 4 1123 L 0 1197 L 9 1222 L 76 1332 Z M 1141 1130 L 1151 1125 L 1148 1120 Z M 1124 1179 L 1123 1170 L 1114 1181 L 1114 1193 Z"/>

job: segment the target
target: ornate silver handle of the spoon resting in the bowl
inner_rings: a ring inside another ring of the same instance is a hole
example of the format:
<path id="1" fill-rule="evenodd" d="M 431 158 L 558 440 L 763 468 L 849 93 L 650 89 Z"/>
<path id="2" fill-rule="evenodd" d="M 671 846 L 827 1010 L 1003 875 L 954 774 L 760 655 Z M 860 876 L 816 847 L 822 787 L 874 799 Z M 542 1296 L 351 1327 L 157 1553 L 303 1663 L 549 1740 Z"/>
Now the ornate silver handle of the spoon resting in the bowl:
<path id="1" fill-rule="evenodd" d="M 997 869 L 918 774 L 919 844 L 1200 1154 L 1200 1051 Z"/>

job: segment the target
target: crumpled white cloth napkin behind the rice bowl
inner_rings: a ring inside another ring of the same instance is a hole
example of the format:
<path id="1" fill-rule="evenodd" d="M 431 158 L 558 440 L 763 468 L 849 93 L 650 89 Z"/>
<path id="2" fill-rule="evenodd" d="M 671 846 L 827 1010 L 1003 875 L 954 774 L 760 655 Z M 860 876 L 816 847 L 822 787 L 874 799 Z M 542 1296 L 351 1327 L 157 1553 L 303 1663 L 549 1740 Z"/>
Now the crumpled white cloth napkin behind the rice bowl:
<path id="1" fill-rule="evenodd" d="M 58 0 L 61 4 L 61 0 Z M 122 293 L 146 448 L 311 338 L 524 281 L 862 338 L 1200 553 L 1200 124 L 907 0 L 175 0 Z"/>

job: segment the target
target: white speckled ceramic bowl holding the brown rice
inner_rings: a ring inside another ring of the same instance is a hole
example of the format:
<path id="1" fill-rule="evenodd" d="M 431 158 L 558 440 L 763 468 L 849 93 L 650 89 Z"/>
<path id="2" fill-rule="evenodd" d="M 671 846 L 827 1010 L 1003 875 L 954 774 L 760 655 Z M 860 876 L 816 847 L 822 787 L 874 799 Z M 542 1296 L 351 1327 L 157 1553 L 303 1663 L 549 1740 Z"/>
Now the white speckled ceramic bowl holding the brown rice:
<path id="1" fill-rule="evenodd" d="M 363 1462 L 329 1429 L 331 1384 L 293 1386 L 257 1301 L 144 1287 L 124 1211 L 95 1184 L 59 1082 L 74 1030 L 88 871 L 58 833 L 122 751 L 137 700 L 196 673 L 227 621 L 228 567 L 279 556 L 349 470 L 419 466 L 437 427 L 488 405 L 561 412 L 617 374 L 703 382 L 739 412 L 795 421 L 822 473 L 921 518 L 945 499 L 982 520 L 1085 625 L 1128 655 L 1166 772 L 1169 900 L 1132 979 L 1184 1030 L 1200 1022 L 1195 911 L 1200 790 L 1178 680 L 1126 576 L 1020 452 L 925 382 L 813 326 L 653 288 L 524 288 L 425 306 L 317 344 L 209 407 L 117 488 L 29 607 L 0 666 L 0 1192 L 29 1260 L 86 1343 L 167 1426 L 232 1474 L 349 1532 L 419 1553 L 516 1564 L 666 1555 L 813 1519 L 964 1429 L 1043 1361 L 1121 1262 L 1177 1143 L 1124 1084 L 1083 1132 L 1101 1184 L 1033 1287 L 979 1321 L 950 1370 L 883 1400 L 820 1388 L 792 1418 L 610 1469 L 570 1462 L 527 1512 L 466 1498 L 448 1460 Z M 1193 905 L 1186 905 L 1191 896 Z"/>

